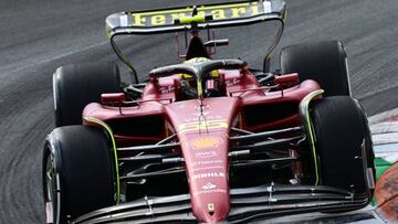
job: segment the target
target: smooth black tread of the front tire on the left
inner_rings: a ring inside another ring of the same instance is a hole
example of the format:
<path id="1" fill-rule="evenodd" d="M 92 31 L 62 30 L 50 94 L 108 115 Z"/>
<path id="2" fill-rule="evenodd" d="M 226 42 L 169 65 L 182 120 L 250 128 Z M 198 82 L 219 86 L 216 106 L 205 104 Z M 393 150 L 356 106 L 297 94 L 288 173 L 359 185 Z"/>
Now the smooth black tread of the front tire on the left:
<path id="1" fill-rule="evenodd" d="M 53 151 L 60 175 L 61 223 L 113 205 L 114 173 L 106 135 L 84 126 L 56 128 L 51 135 L 56 136 Z"/>

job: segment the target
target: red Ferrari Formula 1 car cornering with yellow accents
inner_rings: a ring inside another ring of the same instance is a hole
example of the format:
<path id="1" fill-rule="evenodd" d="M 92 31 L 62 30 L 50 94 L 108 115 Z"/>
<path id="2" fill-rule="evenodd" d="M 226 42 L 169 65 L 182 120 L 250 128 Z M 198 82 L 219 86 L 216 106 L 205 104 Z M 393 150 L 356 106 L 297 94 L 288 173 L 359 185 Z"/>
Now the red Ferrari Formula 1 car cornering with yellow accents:
<path id="1" fill-rule="evenodd" d="M 271 73 L 285 15 L 282 0 L 109 15 L 111 44 L 135 82 L 122 83 L 114 63 L 54 73 L 57 128 L 43 154 L 46 221 L 247 223 L 366 206 L 375 186 L 373 143 L 350 97 L 343 44 L 284 47 L 281 70 Z M 229 43 L 214 39 L 214 29 L 269 21 L 279 30 L 262 70 L 212 58 Z M 164 33 L 185 35 L 182 62 L 139 83 L 115 38 Z"/>

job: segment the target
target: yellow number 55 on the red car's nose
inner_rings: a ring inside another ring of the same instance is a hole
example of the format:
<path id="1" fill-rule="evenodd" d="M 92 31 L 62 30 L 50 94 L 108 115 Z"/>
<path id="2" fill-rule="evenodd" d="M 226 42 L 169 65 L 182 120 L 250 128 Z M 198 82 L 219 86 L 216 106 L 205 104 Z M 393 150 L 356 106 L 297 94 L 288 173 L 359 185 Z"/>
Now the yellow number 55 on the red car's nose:
<path id="1" fill-rule="evenodd" d="M 223 129 L 228 128 L 229 125 L 226 120 L 202 120 L 202 121 L 195 121 L 195 122 L 186 122 L 178 126 L 178 132 L 189 132 L 189 131 L 206 131 L 206 130 L 213 130 L 213 129 Z"/>

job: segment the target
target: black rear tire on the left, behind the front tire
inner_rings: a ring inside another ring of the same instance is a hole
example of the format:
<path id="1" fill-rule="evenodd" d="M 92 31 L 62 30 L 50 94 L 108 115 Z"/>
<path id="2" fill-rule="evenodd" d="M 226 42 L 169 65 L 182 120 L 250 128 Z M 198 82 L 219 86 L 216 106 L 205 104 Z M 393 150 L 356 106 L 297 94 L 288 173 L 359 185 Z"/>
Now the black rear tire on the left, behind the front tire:
<path id="1" fill-rule="evenodd" d="M 103 93 L 121 93 L 115 63 L 86 63 L 59 67 L 53 75 L 55 126 L 81 125 L 84 107 L 100 103 Z"/>

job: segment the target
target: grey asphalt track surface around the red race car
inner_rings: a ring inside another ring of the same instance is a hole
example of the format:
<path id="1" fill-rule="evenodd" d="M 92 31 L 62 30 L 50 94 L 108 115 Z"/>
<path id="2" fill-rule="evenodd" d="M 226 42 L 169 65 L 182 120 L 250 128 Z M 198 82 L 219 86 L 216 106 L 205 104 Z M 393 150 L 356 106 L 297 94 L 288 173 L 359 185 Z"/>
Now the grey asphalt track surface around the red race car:
<path id="1" fill-rule="evenodd" d="M 211 1 L 0 1 L 0 223 L 44 222 L 41 157 L 44 138 L 54 126 L 53 71 L 71 63 L 116 61 L 104 35 L 109 13 L 199 2 Z M 398 106 L 398 1 L 289 0 L 287 4 L 289 22 L 280 46 L 343 41 L 353 94 L 367 114 Z M 174 43 L 158 40 L 156 44 Z M 151 43 L 144 39 L 134 45 L 140 55 L 151 53 L 146 51 Z M 251 54 L 262 56 L 262 52 Z M 134 62 L 155 66 L 149 58 Z"/>

